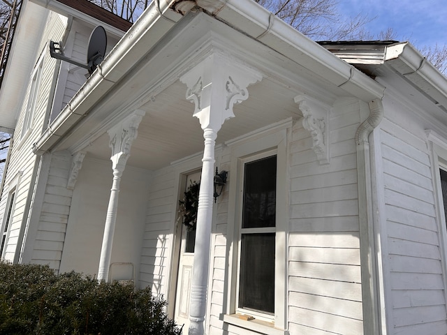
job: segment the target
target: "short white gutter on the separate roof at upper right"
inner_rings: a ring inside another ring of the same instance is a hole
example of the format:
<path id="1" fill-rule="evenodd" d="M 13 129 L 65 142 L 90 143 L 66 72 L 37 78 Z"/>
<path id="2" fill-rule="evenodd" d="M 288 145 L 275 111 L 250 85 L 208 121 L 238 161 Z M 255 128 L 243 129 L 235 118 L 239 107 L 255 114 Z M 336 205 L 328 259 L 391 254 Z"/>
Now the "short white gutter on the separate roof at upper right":
<path id="1" fill-rule="evenodd" d="M 411 43 L 389 45 L 386 47 L 384 60 L 447 112 L 447 77 Z"/>

